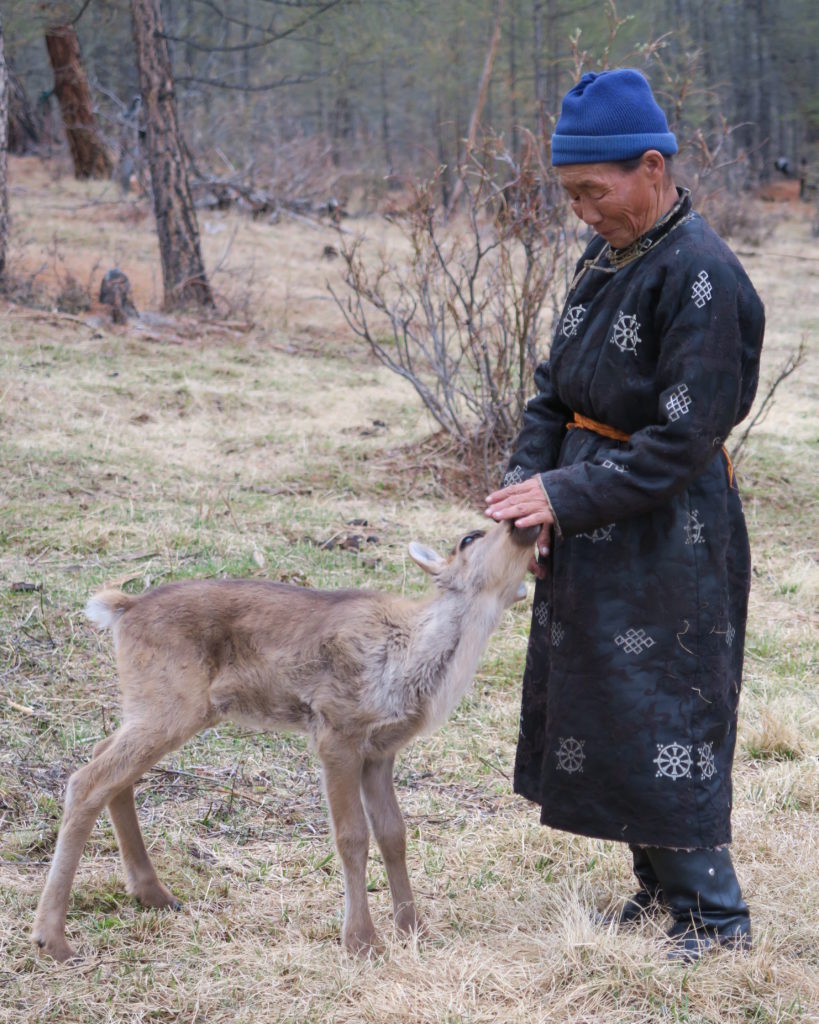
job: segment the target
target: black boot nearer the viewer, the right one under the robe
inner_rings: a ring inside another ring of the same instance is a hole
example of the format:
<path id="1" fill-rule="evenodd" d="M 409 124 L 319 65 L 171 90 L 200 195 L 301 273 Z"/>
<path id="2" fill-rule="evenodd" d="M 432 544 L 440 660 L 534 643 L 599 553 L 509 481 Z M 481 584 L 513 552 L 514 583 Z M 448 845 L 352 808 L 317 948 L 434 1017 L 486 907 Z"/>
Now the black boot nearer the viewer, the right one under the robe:
<path id="1" fill-rule="evenodd" d="M 695 961 L 717 946 L 750 949 L 750 914 L 727 848 L 646 853 L 674 918 L 669 959 Z"/>

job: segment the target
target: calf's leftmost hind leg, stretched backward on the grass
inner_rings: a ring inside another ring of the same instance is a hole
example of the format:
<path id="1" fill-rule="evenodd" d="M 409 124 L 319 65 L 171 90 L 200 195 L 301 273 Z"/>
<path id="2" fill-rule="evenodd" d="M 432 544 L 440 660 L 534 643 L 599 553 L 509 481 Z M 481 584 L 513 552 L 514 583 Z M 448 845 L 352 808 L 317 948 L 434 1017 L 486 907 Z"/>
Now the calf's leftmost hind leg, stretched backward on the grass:
<path id="1" fill-rule="evenodd" d="M 155 728 L 144 723 L 125 725 L 109 737 L 107 741 L 103 741 L 97 756 L 69 779 L 62 822 L 45 888 L 37 906 L 33 932 L 40 948 L 54 959 L 66 961 L 75 955 L 66 941 L 69 896 L 80 856 L 100 811 L 176 745 L 176 742 L 168 740 L 167 735 L 158 735 Z M 129 799 L 132 803 L 133 798 Z M 128 830 L 128 824 L 132 824 L 128 821 L 128 809 L 122 802 L 116 806 L 121 820 L 126 824 L 129 855 L 136 857 L 136 861 L 132 862 L 138 862 L 133 834 Z M 139 845 L 144 849 L 141 837 Z M 147 859 L 147 853 L 144 857 Z M 153 865 L 150 870 L 153 872 Z"/>

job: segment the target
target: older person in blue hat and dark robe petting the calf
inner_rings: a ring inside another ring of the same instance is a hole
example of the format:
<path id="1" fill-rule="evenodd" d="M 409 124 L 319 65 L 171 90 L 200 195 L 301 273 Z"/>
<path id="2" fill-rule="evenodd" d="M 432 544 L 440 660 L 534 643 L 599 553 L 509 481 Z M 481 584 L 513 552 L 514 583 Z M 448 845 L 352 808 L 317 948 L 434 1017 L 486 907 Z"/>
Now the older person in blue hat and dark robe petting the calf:
<path id="1" fill-rule="evenodd" d="M 676 152 L 639 72 L 563 100 L 552 162 L 596 234 L 486 513 L 543 525 L 515 790 L 544 824 L 628 843 L 640 891 L 608 920 L 665 908 L 688 959 L 750 944 L 728 852 L 750 564 L 724 442 L 764 311 Z"/>

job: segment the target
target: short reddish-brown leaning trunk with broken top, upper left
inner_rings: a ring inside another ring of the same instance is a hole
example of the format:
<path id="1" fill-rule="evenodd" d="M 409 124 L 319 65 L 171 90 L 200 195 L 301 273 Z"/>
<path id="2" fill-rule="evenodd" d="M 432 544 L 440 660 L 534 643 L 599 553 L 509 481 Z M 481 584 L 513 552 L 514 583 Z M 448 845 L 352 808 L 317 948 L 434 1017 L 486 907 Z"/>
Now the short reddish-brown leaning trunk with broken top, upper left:
<path id="1" fill-rule="evenodd" d="M 99 137 L 74 26 L 55 25 L 47 29 L 45 45 L 54 72 L 54 92 L 74 161 L 74 175 L 110 178 L 114 163 Z"/>

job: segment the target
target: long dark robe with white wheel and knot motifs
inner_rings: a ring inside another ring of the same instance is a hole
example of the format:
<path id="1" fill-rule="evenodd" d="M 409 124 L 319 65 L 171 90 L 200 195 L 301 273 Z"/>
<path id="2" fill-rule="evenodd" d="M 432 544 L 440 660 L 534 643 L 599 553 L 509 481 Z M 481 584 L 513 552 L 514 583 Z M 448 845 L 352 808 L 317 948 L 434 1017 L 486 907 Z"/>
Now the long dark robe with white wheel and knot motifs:
<path id="1" fill-rule="evenodd" d="M 753 399 L 764 310 L 687 195 L 637 246 L 615 269 L 598 237 L 577 264 L 504 478 L 541 473 L 556 516 L 515 790 L 557 828 L 716 847 L 750 578 L 723 443 Z M 573 413 L 631 436 L 567 430 Z"/>

